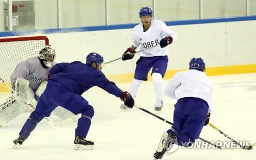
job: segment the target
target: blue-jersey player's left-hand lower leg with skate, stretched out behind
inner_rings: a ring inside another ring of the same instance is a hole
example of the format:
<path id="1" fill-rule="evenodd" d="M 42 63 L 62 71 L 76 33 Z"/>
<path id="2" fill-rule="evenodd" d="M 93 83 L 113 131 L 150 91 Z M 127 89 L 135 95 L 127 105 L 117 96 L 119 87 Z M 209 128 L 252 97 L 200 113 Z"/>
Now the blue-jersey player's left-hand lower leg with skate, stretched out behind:
<path id="1" fill-rule="evenodd" d="M 22 145 L 29 137 L 30 133 L 35 129 L 37 123 L 39 123 L 43 118 L 44 116 L 39 115 L 39 113 L 34 110 L 20 130 L 19 137 L 13 141 L 13 148 L 17 148 L 18 146 Z"/>

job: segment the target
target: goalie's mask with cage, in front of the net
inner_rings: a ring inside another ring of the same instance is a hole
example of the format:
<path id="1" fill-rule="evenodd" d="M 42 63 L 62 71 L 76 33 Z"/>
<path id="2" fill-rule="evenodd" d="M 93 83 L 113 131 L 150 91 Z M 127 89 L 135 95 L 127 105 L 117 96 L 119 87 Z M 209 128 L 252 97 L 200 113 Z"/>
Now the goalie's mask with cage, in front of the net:
<path id="1" fill-rule="evenodd" d="M 46 45 L 44 49 L 39 52 L 39 59 L 44 67 L 49 68 L 56 57 L 55 50 L 51 45 Z"/>

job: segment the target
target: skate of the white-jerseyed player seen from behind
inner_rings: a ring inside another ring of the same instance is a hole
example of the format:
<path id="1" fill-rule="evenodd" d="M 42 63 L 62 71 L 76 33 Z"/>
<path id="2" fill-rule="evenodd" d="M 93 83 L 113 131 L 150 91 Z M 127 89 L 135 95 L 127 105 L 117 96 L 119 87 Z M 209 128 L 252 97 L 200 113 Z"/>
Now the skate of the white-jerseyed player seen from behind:
<path id="1" fill-rule="evenodd" d="M 168 151 L 169 148 L 171 148 L 176 141 L 177 138 L 174 134 L 168 134 L 167 132 L 163 132 L 157 151 L 154 154 L 154 158 L 162 159 L 164 153 Z"/>

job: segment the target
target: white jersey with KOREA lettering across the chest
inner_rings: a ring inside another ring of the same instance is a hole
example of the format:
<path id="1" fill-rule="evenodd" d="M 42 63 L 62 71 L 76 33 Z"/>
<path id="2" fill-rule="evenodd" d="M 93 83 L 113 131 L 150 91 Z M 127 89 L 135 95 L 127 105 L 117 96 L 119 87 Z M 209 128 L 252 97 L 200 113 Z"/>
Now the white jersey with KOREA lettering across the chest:
<path id="1" fill-rule="evenodd" d="M 140 50 L 151 48 L 159 44 L 160 40 L 168 35 L 173 37 L 173 42 L 177 40 L 177 33 L 170 30 L 163 21 L 152 19 L 151 26 L 146 32 L 143 32 L 142 23 L 133 28 L 133 45 L 136 48 L 141 45 Z M 154 57 L 165 56 L 168 54 L 168 46 L 162 49 L 159 45 L 158 47 L 152 48 L 150 50 L 140 52 L 139 56 Z"/>

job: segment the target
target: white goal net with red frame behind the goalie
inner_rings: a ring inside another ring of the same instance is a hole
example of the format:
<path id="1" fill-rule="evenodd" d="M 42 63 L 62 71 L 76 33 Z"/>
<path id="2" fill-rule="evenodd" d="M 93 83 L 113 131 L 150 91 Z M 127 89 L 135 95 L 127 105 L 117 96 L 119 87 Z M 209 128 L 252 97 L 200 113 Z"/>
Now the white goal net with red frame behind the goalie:
<path id="1" fill-rule="evenodd" d="M 0 38 L 0 78 L 9 86 L 10 76 L 16 65 L 30 57 L 39 55 L 39 51 L 49 45 L 46 36 Z M 0 81 L 0 105 L 11 96 L 11 90 Z"/>

